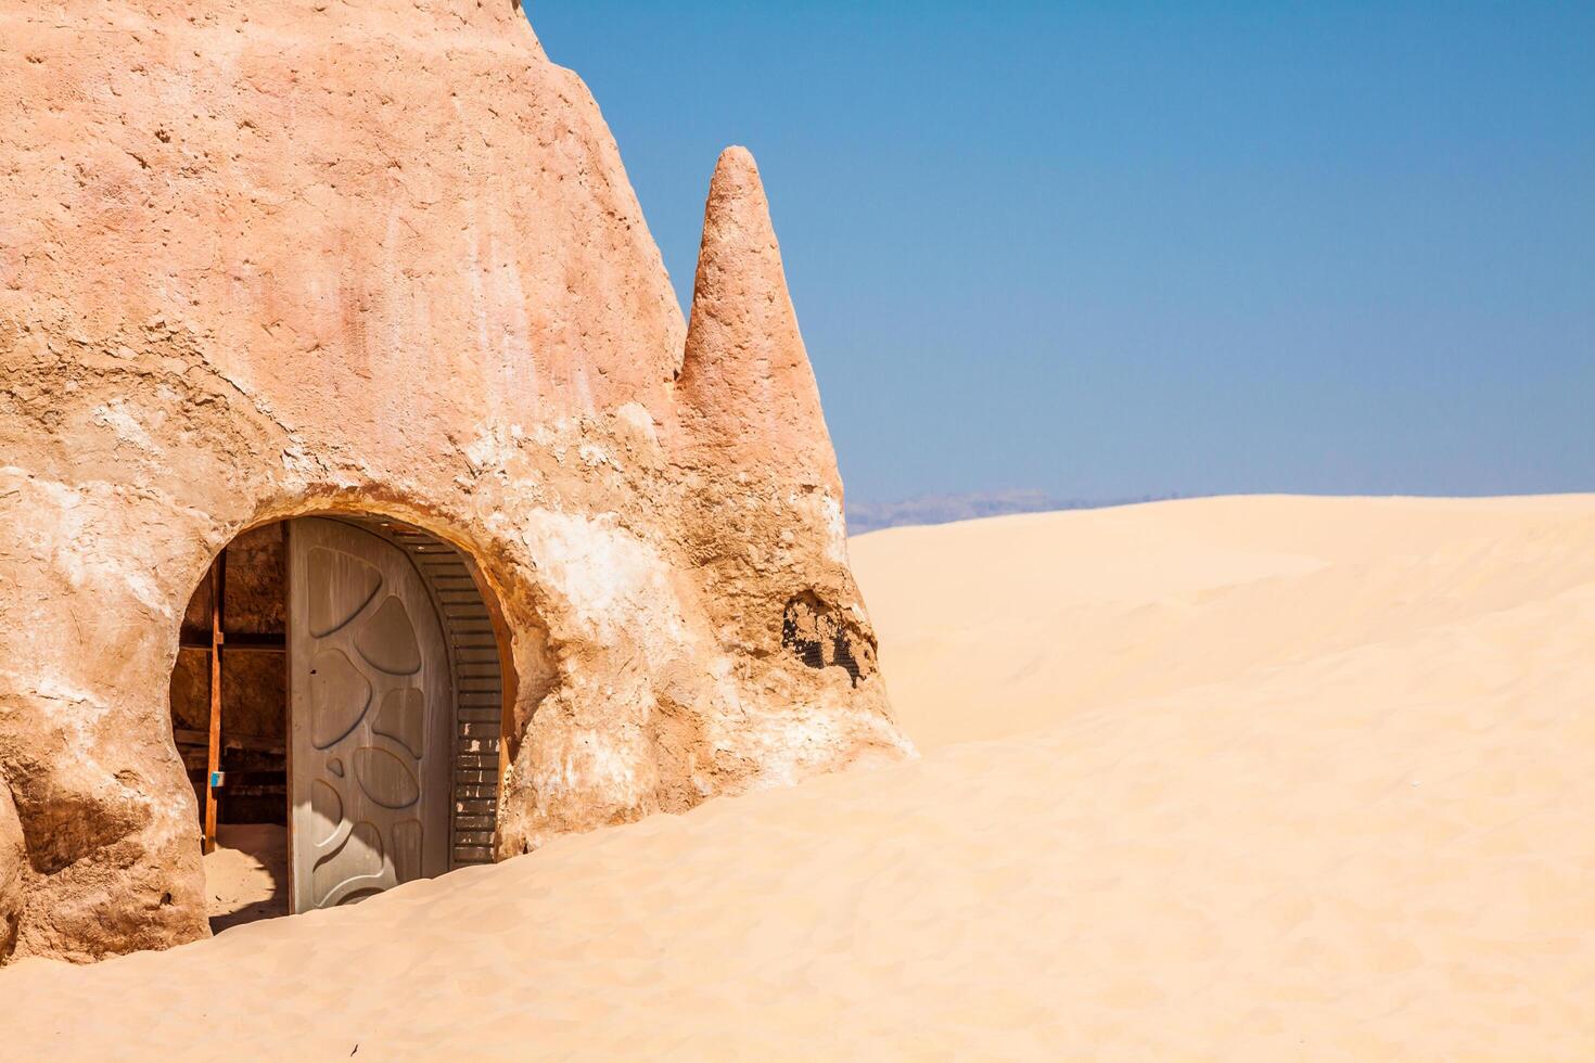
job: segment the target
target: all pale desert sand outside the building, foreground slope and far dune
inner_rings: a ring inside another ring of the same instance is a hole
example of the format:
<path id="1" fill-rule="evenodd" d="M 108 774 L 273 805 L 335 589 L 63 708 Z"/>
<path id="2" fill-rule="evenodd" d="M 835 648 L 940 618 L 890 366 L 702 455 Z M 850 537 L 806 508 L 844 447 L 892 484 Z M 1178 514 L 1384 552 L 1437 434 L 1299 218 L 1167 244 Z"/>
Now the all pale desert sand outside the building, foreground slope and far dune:
<path id="1" fill-rule="evenodd" d="M 920 760 L 24 961 L 3 1055 L 1595 1057 L 1595 497 L 852 555 Z"/>

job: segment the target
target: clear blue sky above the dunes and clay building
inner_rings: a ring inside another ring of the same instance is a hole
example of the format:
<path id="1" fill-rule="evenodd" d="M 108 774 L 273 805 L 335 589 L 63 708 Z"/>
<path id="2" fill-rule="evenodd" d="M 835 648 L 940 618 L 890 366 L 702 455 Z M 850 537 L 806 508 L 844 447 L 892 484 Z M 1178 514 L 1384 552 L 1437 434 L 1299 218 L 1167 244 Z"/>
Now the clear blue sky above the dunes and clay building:
<path id="1" fill-rule="evenodd" d="M 1595 491 L 1595 3 L 530 18 L 684 301 L 753 150 L 853 499 Z"/>

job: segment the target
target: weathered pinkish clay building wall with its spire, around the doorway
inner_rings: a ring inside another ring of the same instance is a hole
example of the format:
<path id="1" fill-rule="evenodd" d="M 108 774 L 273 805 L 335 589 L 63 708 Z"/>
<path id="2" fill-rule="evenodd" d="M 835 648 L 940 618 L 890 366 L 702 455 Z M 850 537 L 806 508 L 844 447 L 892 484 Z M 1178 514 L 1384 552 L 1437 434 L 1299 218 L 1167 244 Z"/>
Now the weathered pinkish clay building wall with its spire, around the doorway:
<path id="1" fill-rule="evenodd" d="M 509 0 L 0 0 L 0 113 L 14 955 L 206 932 L 167 685 L 271 520 L 475 561 L 520 681 L 501 854 L 908 752 L 745 155 L 684 354 L 608 127 Z"/>

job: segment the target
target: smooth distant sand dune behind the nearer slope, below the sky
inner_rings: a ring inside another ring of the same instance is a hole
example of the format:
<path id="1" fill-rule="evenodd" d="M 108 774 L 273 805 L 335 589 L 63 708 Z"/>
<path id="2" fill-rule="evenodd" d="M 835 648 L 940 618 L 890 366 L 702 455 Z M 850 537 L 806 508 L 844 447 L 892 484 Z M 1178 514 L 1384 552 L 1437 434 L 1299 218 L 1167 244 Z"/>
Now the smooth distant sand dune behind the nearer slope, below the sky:
<path id="1" fill-rule="evenodd" d="M 852 551 L 928 751 L 1542 606 L 1595 577 L 1595 500 L 1198 499 L 890 529 Z"/>

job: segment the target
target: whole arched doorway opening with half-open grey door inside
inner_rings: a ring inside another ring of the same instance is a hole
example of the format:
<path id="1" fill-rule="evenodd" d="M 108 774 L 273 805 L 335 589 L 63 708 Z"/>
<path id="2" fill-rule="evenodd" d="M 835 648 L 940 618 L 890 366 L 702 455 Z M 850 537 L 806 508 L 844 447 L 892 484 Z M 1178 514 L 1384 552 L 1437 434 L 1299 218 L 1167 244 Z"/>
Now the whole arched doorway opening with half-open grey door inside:
<path id="1" fill-rule="evenodd" d="M 478 574 L 419 528 L 321 515 L 234 539 L 171 687 L 212 929 L 491 862 L 507 674 Z"/>

